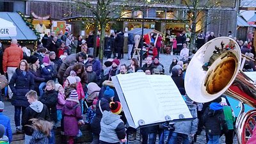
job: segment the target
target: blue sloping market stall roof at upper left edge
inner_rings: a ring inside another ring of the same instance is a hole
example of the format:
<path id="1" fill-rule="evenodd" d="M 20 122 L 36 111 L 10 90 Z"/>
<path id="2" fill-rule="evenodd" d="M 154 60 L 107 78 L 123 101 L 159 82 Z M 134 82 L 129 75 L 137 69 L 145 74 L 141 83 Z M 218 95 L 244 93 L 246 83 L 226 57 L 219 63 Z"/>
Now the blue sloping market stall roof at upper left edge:
<path id="1" fill-rule="evenodd" d="M 1 40 L 11 40 L 12 38 L 17 40 L 37 40 L 35 32 L 26 25 L 19 13 L 0 12 L 0 18 L 12 22 L 17 30 L 17 36 L 4 36 L 1 37 Z"/>

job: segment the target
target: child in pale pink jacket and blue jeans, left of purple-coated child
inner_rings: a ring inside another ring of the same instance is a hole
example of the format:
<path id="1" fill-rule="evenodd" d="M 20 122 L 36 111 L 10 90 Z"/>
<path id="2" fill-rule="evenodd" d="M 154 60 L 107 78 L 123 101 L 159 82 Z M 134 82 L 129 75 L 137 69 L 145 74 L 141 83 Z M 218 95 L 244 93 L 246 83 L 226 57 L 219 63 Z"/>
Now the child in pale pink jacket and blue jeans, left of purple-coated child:
<path id="1" fill-rule="evenodd" d="M 65 100 L 65 92 L 64 92 L 64 88 L 61 86 L 61 84 L 56 83 L 55 84 L 55 91 L 58 92 L 58 101 L 57 101 L 57 123 L 61 121 L 62 115 L 61 115 L 61 111 L 62 108 L 66 102 Z"/>

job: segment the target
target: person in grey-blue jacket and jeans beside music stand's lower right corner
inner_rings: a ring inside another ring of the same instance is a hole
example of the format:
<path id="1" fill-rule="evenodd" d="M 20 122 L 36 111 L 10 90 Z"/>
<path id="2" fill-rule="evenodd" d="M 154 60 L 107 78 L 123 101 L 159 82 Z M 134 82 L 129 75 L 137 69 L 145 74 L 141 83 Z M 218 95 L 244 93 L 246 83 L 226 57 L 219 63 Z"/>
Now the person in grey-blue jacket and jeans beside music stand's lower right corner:
<path id="1" fill-rule="evenodd" d="M 193 100 L 191 100 L 188 95 L 185 95 L 185 98 L 188 109 L 192 117 L 195 119 L 191 121 L 175 122 L 175 131 L 172 133 L 171 139 L 169 141 L 170 144 L 189 143 L 189 141 L 193 140 L 193 137 L 197 131 L 198 119 L 196 104 L 194 104 Z"/>

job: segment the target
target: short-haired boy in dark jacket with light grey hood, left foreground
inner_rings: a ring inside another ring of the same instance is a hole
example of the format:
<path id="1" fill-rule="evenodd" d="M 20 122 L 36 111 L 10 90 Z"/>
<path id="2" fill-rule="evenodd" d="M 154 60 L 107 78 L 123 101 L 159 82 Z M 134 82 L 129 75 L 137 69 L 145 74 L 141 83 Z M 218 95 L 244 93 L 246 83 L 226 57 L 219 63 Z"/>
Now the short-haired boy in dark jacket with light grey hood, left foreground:
<path id="1" fill-rule="evenodd" d="M 31 127 L 32 122 L 30 121 L 31 118 L 43 118 L 51 122 L 51 116 L 49 114 L 48 108 L 45 104 L 38 101 L 37 93 L 34 90 L 30 90 L 26 94 L 26 98 L 28 99 L 29 106 L 26 108 L 24 113 L 24 124 L 25 127 L 25 144 L 29 144 L 29 141 L 32 138 L 33 128 Z"/>

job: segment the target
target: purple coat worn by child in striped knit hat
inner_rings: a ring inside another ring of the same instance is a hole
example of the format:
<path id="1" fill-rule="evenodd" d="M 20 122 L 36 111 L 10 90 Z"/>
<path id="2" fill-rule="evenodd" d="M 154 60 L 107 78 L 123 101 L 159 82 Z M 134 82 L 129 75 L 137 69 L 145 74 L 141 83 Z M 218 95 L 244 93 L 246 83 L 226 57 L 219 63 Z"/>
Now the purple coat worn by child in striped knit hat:
<path id="1" fill-rule="evenodd" d="M 78 120 L 82 120 L 80 104 L 71 100 L 66 101 L 62 109 L 64 117 L 64 134 L 66 136 L 76 136 L 78 134 Z"/>

